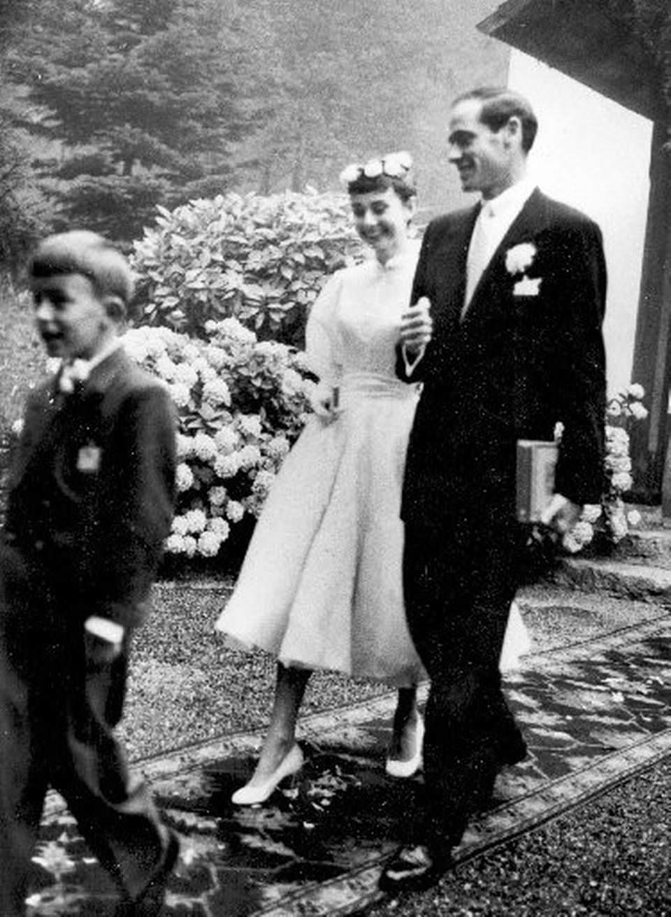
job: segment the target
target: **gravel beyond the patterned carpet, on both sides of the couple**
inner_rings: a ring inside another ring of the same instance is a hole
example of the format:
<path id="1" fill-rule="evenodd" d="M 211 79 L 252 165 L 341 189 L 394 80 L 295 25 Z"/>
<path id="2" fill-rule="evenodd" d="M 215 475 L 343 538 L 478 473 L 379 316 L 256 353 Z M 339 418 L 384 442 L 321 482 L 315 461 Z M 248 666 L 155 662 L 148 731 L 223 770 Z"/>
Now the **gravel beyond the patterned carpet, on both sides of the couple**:
<path id="1" fill-rule="evenodd" d="M 132 759 L 261 729 L 268 722 L 274 661 L 265 653 L 231 650 L 214 632 L 233 581 L 157 585 L 154 610 L 135 637 L 120 730 Z M 536 650 L 589 639 L 659 613 L 652 603 L 552 587 L 522 591 L 519 602 Z M 387 691 L 383 684 L 315 672 L 302 713 L 345 706 Z"/>

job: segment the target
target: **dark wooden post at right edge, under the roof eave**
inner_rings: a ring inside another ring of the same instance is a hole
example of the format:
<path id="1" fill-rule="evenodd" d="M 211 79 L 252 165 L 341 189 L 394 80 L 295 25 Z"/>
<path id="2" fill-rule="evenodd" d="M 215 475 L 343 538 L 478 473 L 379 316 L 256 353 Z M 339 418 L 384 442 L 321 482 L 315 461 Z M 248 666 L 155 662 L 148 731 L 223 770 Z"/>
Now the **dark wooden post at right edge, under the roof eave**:
<path id="1" fill-rule="evenodd" d="M 671 378 L 671 156 L 665 123 L 655 123 L 643 274 L 633 350 L 632 381 L 645 389 L 647 419 L 632 433 L 633 493 L 660 503 L 671 517 L 671 465 L 666 468 Z"/>

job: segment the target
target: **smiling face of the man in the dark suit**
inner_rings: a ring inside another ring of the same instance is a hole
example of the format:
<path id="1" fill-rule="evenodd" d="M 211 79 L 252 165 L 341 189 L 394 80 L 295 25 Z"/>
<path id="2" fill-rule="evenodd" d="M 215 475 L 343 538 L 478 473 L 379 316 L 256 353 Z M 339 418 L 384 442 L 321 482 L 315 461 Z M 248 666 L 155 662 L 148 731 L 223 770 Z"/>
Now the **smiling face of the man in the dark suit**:
<path id="1" fill-rule="evenodd" d="M 479 191 L 484 198 L 496 197 L 513 183 L 513 119 L 499 130 L 480 121 L 478 99 L 457 102 L 450 112 L 449 160 L 457 167 L 464 191 Z"/>

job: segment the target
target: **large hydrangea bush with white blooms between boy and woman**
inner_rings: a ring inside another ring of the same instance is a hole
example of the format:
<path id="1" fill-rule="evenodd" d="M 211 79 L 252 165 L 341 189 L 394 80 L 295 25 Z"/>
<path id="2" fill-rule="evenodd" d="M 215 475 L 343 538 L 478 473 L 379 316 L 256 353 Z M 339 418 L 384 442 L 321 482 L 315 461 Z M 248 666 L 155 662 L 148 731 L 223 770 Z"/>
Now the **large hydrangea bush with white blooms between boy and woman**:
<path id="1" fill-rule="evenodd" d="M 298 436 L 314 386 L 303 354 L 235 318 L 208 322 L 207 342 L 134 328 L 126 350 L 168 387 L 179 412 L 177 512 L 169 555 L 215 558 L 255 517 Z"/>

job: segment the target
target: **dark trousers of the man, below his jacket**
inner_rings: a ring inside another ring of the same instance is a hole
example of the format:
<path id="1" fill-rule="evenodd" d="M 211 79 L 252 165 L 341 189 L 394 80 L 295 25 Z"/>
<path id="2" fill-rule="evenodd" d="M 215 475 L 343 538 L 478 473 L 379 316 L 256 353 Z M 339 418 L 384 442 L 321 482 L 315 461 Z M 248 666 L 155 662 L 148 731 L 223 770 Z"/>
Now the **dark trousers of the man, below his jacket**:
<path id="1" fill-rule="evenodd" d="M 496 510 L 499 510 L 496 507 Z M 426 705 L 427 799 L 409 840 L 458 843 L 523 738 L 501 691 L 499 657 L 517 586 L 520 537 L 492 506 L 457 510 L 440 534 L 406 528 L 408 622 L 431 679 Z"/>

